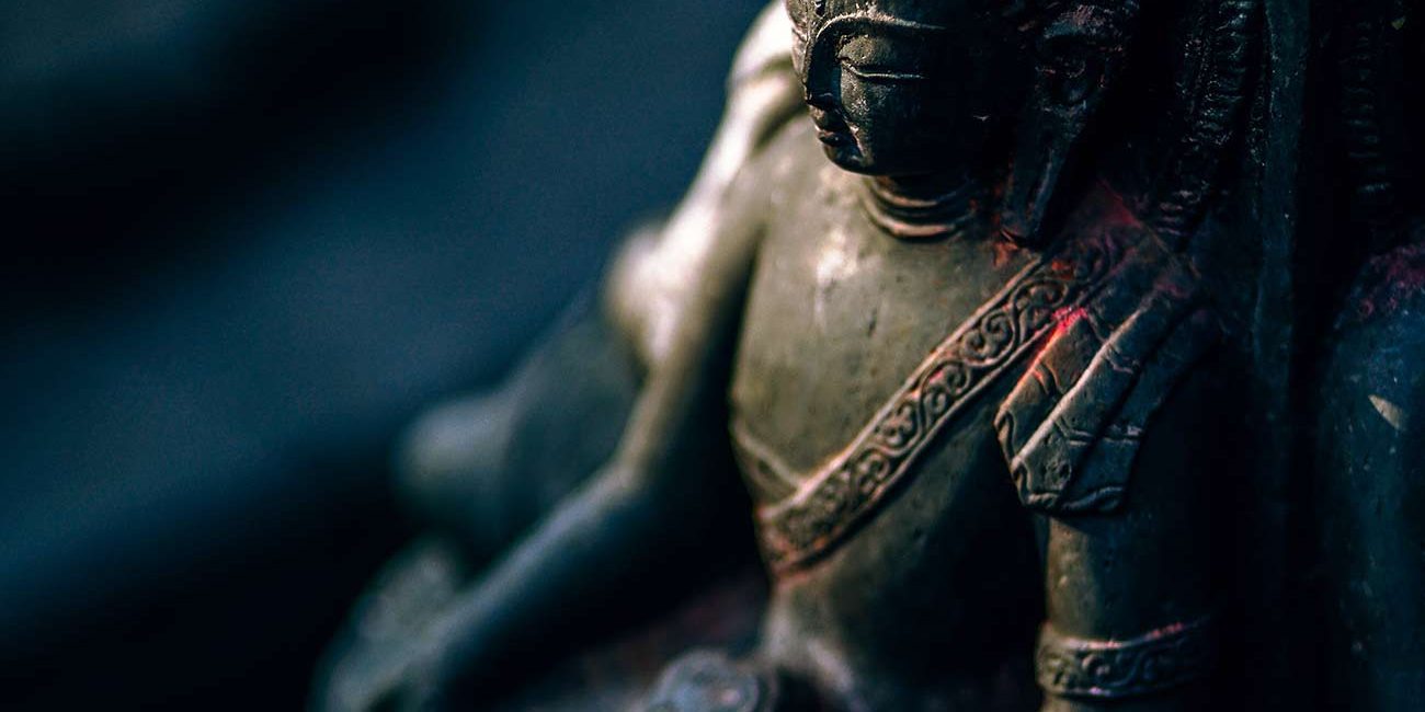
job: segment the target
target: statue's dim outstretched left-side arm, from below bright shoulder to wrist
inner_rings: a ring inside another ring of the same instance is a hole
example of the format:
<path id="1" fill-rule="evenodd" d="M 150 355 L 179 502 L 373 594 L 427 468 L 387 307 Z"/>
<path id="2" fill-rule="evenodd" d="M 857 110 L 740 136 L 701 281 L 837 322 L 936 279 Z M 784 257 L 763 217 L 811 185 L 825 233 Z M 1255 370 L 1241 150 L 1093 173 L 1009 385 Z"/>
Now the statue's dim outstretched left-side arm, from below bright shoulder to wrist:
<path id="1" fill-rule="evenodd" d="M 725 461 L 718 454 L 727 451 L 725 372 L 755 235 L 722 235 L 611 464 L 540 523 L 437 627 L 423 666 L 437 689 L 469 688 L 452 682 L 479 682 L 512 655 L 560 639 L 560 628 L 631 588 L 641 574 L 664 564 L 695 565 L 687 544 L 715 540 L 704 534 L 722 521 L 738 491 L 735 477 L 718 467 Z M 667 565 L 657 568 L 660 578 L 670 578 Z"/>

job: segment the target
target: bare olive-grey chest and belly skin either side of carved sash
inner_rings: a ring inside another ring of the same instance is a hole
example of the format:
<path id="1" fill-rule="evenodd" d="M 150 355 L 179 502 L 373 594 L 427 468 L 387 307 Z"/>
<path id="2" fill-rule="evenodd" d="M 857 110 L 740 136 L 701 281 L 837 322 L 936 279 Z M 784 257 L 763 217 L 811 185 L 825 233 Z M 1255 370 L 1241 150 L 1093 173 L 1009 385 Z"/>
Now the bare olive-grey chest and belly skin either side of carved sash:
<path id="1" fill-rule="evenodd" d="M 761 508 L 805 487 L 1035 259 L 985 235 L 886 235 L 858 204 L 861 178 L 826 164 L 805 128 L 764 165 L 772 206 L 731 397 L 734 437 L 755 453 L 744 463 L 761 460 L 744 467 Z M 1005 665 L 1027 664 L 1042 584 L 993 427 L 1015 380 L 970 399 L 825 560 L 778 577 L 771 656 L 815 661 L 802 672 L 876 708 L 912 691 L 978 705 Z"/>

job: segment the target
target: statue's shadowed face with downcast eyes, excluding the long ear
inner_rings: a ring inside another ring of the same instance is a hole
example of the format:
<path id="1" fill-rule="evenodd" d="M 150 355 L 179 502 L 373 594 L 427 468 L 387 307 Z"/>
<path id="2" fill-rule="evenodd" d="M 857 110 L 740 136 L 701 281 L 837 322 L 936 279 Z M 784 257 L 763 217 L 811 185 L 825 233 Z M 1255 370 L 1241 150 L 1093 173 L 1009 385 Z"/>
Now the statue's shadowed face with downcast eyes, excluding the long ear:
<path id="1" fill-rule="evenodd" d="M 817 135 L 868 175 L 968 169 L 1033 83 L 1007 0 L 787 0 Z"/>

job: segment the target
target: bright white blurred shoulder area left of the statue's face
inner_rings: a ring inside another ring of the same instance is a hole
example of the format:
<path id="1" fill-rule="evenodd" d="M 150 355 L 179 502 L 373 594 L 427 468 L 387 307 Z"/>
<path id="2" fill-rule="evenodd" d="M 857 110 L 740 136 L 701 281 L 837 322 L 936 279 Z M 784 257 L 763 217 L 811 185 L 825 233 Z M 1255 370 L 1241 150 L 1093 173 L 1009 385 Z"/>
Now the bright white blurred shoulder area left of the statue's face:
<path id="1" fill-rule="evenodd" d="M 687 293 L 720 242 L 748 224 L 745 214 L 752 208 L 737 198 L 738 177 L 802 115 L 791 37 L 791 20 L 778 0 L 762 11 L 738 50 L 722 120 L 683 201 L 665 221 L 626 239 L 614 259 L 604 306 L 647 366 L 665 355 Z"/>

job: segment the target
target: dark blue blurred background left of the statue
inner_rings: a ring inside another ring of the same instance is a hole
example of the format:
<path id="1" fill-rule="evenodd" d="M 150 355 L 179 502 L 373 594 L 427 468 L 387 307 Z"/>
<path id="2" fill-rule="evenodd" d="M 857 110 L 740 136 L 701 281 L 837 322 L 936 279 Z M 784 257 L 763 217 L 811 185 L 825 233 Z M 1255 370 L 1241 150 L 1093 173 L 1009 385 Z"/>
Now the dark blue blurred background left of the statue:
<path id="1" fill-rule="evenodd" d="M 673 204 L 761 0 L 0 0 L 0 708 L 302 706 L 388 450 Z"/>

